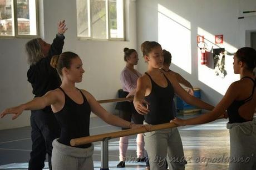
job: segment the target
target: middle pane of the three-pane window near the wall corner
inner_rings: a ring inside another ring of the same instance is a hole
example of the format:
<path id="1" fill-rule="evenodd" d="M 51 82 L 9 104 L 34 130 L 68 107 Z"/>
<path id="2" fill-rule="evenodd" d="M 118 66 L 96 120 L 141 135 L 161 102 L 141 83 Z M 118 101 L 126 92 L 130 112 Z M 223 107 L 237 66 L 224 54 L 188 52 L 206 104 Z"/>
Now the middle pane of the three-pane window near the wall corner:
<path id="1" fill-rule="evenodd" d="M 106 39 L 106 0 L 92 0 L 92 38 Z"/>

